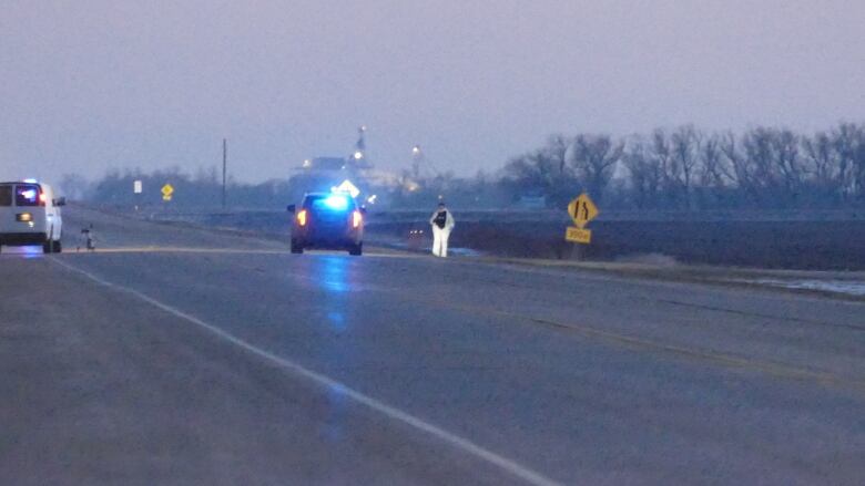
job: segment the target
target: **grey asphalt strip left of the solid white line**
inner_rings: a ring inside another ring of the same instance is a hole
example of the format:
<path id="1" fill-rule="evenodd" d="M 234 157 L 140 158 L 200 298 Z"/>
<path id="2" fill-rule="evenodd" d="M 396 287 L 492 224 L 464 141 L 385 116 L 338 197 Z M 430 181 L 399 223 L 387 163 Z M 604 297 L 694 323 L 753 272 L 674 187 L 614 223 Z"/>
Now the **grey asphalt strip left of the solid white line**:
<path id="1" fill-rule="evenodd" d="M 133 296 L 2 263 L 2 484 L 515 483 Z"/>

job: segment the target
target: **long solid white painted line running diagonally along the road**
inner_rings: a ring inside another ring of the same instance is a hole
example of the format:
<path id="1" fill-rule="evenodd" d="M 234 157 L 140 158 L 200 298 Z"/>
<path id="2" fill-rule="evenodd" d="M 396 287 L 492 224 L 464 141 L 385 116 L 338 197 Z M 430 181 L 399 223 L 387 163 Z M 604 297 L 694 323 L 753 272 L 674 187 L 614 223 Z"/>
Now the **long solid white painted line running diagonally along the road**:
<path id="1" fill-rule="evenodd" d="M 165 311 L 165 312 L 167 312 L 167 313 L 170 313 L 172 316 L 175 316 L 175 317 L 177 317 L 180 319 L 183 319 L 183 320 L 186 320 L 189 322 L 192 322 L 193 324 L 195 324 L 195 325 L 197 325 L 197 327 L 200 327 L 200 328 L 202 328 L 202 329 L 204 329 L 206 331 L 210 331 L 211 333 L 213 333 L 214 335 L 218 337 L 220 339 L 223 339 L 223 340 L 225 340 L 225 341 L 227 341 L 227 342 L 230 342 L 232 344 L 235 344 L 235 345 L 237 345 L 237 347 L 248 351 L 252 354 L 255 354 L 255 355 L 257 355 L 260 358 L 263 358 L 263 359 L 265 359 L 267 361 L 271 361 L 271 362 L 279 365 L 284 370 L 286 370 L 286 371 L 288 371 L 291 373 L 294 373 L 294 374 L 296 374 L 298 376 L 302 376 L 304 379 L 307 379 L 307 380 L 316 383 L 317 385 L 320 385 L 320 386 L 323 386 L 325 389 L 328 389 L 328 390 L 337 390 L 337 391 L 339 391 L 340 393 L 343 393 L 344 395 L 348 396 L 349 399 L 354 400 L 357 403 L 366 405 L 367 407 L 369 407 L 369 409 L 372 409 L 372 410 L 374 410 L 374 411 L 376 411 L 376 412 L 378 412 L 378 413 L 380 413 L 383 415 L 386 415 L 387 417 L 393 418 L 393 420 L 395 420 L 397 422 L 403 422 L 403 423 L 408 424 L 408 425 L 410 425 L 410 426 L 413 426 L 413 427 L 415 427 L 415 428 L 417 428 L 419 431 L 426 432 L 427 434 L 430 434 L 430 435 L 432 435 L 432 436 L 435 436 L 435 437 L 437 437 L 437 438 L 439 438 L 439 440 L 441 440 L 441 441 L 444 441 L 444 442 L 446 442 L 446 443 L 457 447 L 458 449 L 460 449 L 462 452 L 471 454 L 475 457 L 478 457 L 478 458 L 480 458 L 482 461 L 486 461 L 487 463 L 492 464 L 493 466 L 497 466 L 497 467 L 499 467 L 499 468 L 501 468 L 501 469 L 512 474 L 513 476 L 519 477 L 519 478 L 526 480 L 529 484 L 532 484 L 532 485 L 536 485 L 536 486 L 552 486 L 552 485 L 559 485 L 560 484 L 558 482 L 554 482 L 554 480 L 543 476 L 542 474 L 540 474 L 538 472 L 535 472 L 535 471 L 532 471 L 532 469 L 530 469 L 530 468 L 528 468 L 526 466 L 522 466 L 522 465 L 520 465 L 520 464 L 518 464 L 518 463 L 516 463 L 516 462 L 513 462 L 511 459 L 508 459 L 507 457 L 503 457 L 503 456 L 501 456 L 499 454 L 496 454 L 496 453 L 493 453 L 493 452 L 491 452 L 491 451 L 489 451 L 487 448 L 484 448 L 482 446 L 477 445 L 477 444 L 475 444 L 474 442 L 471 442 L 471 441 L 469 441 L 467 438 L 462 438 L 462 437 L 460 437 L 460 436 L 458 436 L 456 434 L 452 434 L 450 432 L 445 431 L 444 428 L 440 428 L 440 427 L 438 427 L 436 425 L 432 425 L 429 422 L 425 422 L 424 420 L 418 418 L 418 417 L 416 417 L 414 415 L 410 415 L 410 414 L 408 414 L 406 412 L 403 412 L 399 409 L 390 406 L 390 405 L 388 405 L 388 404 L 386 404 L 384 402 L 380 402 L 380 401 L 378 401 L 376 399 L 373 399 L 372 396 L 365 395 L 365 394 L 363 394 L 363 393 L 360 393 L 360 392 L 358 392 L 358 391 L 356 391 L 354 389 L 350 389 L 349 386 L 347 386 L 347 385 L 345 385 L 345 384 L 343 384 L 343 383 L 340 383 L 340 382 L 338 382 L 338 381 L 336 381 L 336 380 L 334 380 L 332 378 L 328 378 L 328 376 L 326 376 L 324 374 L 320 374 L 320 373 L 316 373 L 315 371 L 308 370 L 308 369 L 306 369 L 306 368 L 304 368 L 304 366 L 302 366 L 302 365 L 299 365 L 299 364 L 297 364 L 297 363 L 295 363 L 293 361 L 286 360 L 285 358 L 277 356 L 276 354 L 273 354 L 273 353 L 271 353 L 268 351 L 265 351 L 265 350 L 263 350 L 261 348 L 256 348 L 255 345 L 253 345 L 253 344 L 251 344 L 251 343 L 248 343 L 248 342 L 246 342 L 246 341 L 244 341 L 244 340 L 242 340 L 240 338 L 236 338 L 236 337 L 234 337 L 234 335 L 223 331 L 222 329 L 220 329 L 220 328 L 217 328 L 215 325 L 208 324 L 207 322 L 204 322 L 203 320 L 201 320 L 201 319 L 199 319 L 199 318 L 196 318 L 194 316 L 190 316 L 190 314 L 187 314 L 187 313 L 185 313 L 185 312 L 183 312 L 183 311 L 181 311 L 179 309 L 175 309 L 175 308 L 173 308 L 173 307 L 171 307 L 171 306 L 169 306 L 166 303 L 162 303 L 159 300 L 153 299 L 152 297 L 149 297 L 149 296 L 146 296 L 146 294 L 144 294 L 144 293 L 138 291 L 138 290 L 134 290 L 134 289 L 131 289 L 131 288 L 128 288 L 128 287 L 123 287 L 123 286 L 119 286 L 116 283 L 112 283 L 112 282 L 110 282 L 108 280 L 104 280 L 104 279 L 102 279 L 100 277 L 96 277 L 95 275 L 93 275 L 93 273 L 91 273 L 91 272 L 89 272 L 86 270 L 82 270 L 82 269 L 80 269 L 78 267 L 73 267 L 73 266 L 71 266 L 69 263 L 65 263 L 65 262 L 61 261 L 60 259 L 58 259 L 57 257 L 49 257 L 49 259 L 52 262 L 54 262 L 54 263 L 57 263 L 57 265 L 59 265 L 59 266 L 61 266 L 61 267 L 63 267 L 63 268 L 65 268 L 68 270 L 71 270 L 71 271 L 77 272 L 77 273 L 80 273 L 80 275 L 89 278 L 90 280 L 93 280 L 94 282 L 96 282 L 96 283 L 99 283 L 101 286 L 108 287 L 108 288 L 110 288 L 112 290 L 115 290 L 115 291 L 119 291 L 119 292 L 123 292 L 123 293 L 128 293 L 128 294 L 134 296 L 134 297 L 143 300 L 144 302 L 150 303 L 151 306 L 160 309 L 160 310 L 163 310 L 163 311 Z"/>

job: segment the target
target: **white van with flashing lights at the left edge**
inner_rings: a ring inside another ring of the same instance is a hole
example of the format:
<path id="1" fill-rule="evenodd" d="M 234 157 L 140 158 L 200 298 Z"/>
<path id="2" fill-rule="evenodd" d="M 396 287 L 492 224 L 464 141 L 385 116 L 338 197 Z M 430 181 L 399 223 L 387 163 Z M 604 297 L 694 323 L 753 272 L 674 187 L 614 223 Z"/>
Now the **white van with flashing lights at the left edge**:
<path id="1" fill-rule="evenodd" d="M 45 254 L 62 251 L 63 218 L 51 186 L 35 180 L 0 183 L 0 250 L 3 245 L 41 245 Z"/>

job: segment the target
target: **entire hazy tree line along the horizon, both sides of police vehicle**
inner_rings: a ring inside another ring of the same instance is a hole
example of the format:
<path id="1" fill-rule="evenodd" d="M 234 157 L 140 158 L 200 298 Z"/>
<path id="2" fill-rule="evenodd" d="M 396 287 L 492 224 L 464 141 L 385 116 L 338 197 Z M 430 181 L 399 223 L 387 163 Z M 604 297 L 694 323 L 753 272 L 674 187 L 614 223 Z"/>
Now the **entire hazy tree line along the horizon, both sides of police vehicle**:
<path id="1" fill-rule="evenodd" d="M 143 195 L 132 193 L 133 180 L 143 182 Z M 706 133 L 684 125 L 627 137 L 552 135 L 491 173 L 446 173 L 417 180 L 406 170 L 399 180 L 366 189 L 378 195 L 380 205 L 396 209 L 427 208 L 439 197 L 466 208 L 507 208 L 527 198 L 562 208 L 583 190 L 610 209 L 865 207 L 865 125 L 839 123 L 814 134 L 765 126 L 740 134 Z M 222 180 L 215 167 L 195 174 L 179 167 L 111 170 L 94 183 L 67 175 L 60 186 L 75 199 L 162 205 L 159 189 L 166 182 L 175 188 L 173 207 L 221 205 Z M 307 190 L 336 183 L 312 174 L 258 184 L 230 178 L 228 205 L 281 208 Z"/>

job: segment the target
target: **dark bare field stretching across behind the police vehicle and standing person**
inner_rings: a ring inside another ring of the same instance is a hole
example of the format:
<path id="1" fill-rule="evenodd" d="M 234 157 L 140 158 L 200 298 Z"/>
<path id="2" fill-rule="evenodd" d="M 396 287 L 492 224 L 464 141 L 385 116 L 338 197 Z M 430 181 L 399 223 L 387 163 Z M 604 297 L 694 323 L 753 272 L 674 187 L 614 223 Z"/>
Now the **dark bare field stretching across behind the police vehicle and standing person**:
<path id="1" fill-rule="evenodd" d="M 756 213 L 740 215 L 739 219 L 725 219 L 729 215 L 718 214 L 702 216 L 672 215 L 649 221 L 628 214 L 608 214 L 590 225 L 592 244 L 578 255 L 574 245 L 564 241 L 569 221 L 563 213 L 462 213 L 458 214 L 451 247 L 503 257 L 579 256 L 602 261 L 674 260 L 770 269 L 865 270 L 865 219 L 861 215 Z M 289 219 L 284 211 L 149 217 L 288 238 Z M 428 248 L 427 218 L 421 213 L 373 213 L 368 217 L 367 244 Z M 424 232 L 413 236 L 411 230 Z"/>

